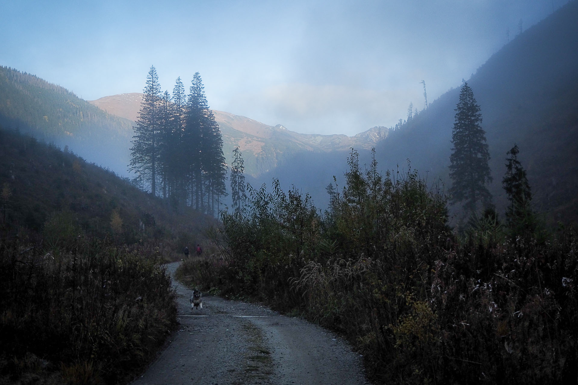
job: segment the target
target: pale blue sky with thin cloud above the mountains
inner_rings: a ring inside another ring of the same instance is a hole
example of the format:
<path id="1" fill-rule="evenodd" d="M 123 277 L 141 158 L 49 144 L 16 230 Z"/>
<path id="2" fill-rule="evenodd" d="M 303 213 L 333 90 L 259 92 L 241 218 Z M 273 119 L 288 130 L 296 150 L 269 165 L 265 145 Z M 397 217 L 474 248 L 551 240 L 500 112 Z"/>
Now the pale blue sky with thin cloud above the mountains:
<path id="1" fill-rule="evenodd" d="M 199 72 L 212 109 L 352 136 L 424 108 L 567 0 L 4 1 L 0 65 L 80 98 Z"/>

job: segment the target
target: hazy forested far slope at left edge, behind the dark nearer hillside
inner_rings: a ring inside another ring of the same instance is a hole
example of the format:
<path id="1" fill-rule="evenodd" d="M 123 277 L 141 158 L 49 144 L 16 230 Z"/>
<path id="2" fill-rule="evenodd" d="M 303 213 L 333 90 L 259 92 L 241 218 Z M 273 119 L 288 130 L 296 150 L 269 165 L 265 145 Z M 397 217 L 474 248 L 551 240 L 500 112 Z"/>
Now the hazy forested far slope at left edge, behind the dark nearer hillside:
<path id="1" fill-rule="evenodd" d="M 66 89 L 0 66 L 0 125 L 70 149 L 124 174 L 132 125 Z"/>

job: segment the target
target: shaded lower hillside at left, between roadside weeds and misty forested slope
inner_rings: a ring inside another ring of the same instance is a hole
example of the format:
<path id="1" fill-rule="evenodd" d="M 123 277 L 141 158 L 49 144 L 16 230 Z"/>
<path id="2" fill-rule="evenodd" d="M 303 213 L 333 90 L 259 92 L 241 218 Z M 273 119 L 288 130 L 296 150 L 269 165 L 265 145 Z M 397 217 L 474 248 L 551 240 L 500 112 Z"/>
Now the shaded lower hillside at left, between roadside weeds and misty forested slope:
<path id="1" fill-rule="evenodd" d="M 169 208 L 128 179 L 71 152 L 3 129 L 0 210 L 0 230 L 9 237 L 24 233 L 38 241 L 51 218 L 65 218 L 87 236 L 162 244 L 160 251 L 169 259 L 199 241 L 201 231 L 214 223 L 190 207 Z"/>

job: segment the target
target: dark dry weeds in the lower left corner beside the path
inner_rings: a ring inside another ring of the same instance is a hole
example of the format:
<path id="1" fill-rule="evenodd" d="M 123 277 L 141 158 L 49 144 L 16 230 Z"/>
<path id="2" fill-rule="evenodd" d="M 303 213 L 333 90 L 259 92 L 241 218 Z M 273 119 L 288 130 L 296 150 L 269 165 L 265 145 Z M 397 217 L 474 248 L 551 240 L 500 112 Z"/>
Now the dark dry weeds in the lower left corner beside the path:
<path id="1" fill-rule="evenodd" d="M 122 382 L 176 324 L 158 257 L 81 236 L 0 256 L 0 383 Z"/>

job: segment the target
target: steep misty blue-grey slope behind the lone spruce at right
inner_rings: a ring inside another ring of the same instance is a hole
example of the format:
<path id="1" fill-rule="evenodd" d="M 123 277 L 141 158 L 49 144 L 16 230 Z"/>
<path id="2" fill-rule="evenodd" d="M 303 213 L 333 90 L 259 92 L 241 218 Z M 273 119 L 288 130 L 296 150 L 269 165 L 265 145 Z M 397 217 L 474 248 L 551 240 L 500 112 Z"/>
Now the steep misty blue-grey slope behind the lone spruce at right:
<path id="1" fill-rule="evenodd" d="M 499 209 L 506 151 L 520 147 L 523 166 L 540 211 L 550 220 L 578 219 L 578 1 L 572 1 L 518 35 L 468 80 L 483 116 Z M 451 129 L 459 89 L 378 146 L 383 166 L 412 160 L 432 177 L 449 182 Z"/>

